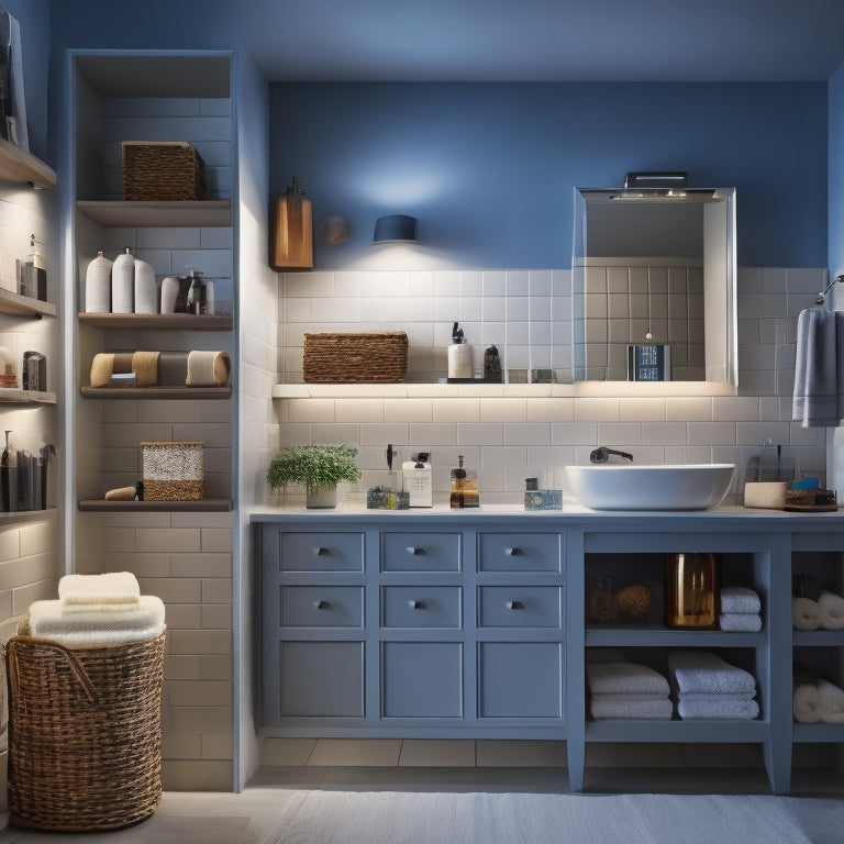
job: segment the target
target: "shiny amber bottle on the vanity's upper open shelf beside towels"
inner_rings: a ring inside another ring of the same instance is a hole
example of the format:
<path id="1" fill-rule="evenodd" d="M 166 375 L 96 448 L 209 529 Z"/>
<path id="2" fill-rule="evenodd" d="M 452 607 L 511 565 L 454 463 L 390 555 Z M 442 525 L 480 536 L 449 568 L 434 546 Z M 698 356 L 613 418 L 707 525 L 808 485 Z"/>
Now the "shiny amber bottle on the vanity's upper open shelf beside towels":
<path id="1" fill-rule="evenodd" d="M 665 623 L 669 628 L 714 628 L 718 622 L 720 558 L 717 554 L 667 554 Z"/>

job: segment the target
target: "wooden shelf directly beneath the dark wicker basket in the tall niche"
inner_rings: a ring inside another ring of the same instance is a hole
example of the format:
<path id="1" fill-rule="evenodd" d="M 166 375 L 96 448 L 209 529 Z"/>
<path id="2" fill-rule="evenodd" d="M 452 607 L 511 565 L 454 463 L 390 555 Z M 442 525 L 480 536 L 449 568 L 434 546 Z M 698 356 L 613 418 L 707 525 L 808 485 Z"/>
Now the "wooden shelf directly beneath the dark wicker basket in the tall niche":
<path id="1" fill-rule="evenodd" d="M 79 200 L 76 207 L 81 214 L 103 227 L 227 226 L 232 224 L 232 202 L 229 199 L 177 202 Z"/>

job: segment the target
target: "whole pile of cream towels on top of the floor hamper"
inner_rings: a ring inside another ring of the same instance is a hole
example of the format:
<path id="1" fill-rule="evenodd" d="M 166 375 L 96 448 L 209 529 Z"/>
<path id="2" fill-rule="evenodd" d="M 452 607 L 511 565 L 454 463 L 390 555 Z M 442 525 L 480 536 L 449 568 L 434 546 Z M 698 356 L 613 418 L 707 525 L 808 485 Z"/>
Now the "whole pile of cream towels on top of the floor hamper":
<path id="1" fill-rule="evenodd" d="M 112 645 L 157 638 L 165 629 L 160 598 L 141 595 L 131 571 L 66 575 L 58 600 L 35 601 L 25 630 L 63 645 Z"/>

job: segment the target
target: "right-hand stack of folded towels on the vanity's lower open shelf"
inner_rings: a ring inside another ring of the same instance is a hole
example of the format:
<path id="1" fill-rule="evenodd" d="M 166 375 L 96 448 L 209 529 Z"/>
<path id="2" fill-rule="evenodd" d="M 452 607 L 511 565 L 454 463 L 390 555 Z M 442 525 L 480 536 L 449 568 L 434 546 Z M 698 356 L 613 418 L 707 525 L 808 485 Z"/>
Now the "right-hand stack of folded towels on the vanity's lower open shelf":
<path id="1" fill-rule="evenodd" d="M 680 718 L 758 718 L 754 676 L 709 651 L 670 651 L 668 680 Z"/>

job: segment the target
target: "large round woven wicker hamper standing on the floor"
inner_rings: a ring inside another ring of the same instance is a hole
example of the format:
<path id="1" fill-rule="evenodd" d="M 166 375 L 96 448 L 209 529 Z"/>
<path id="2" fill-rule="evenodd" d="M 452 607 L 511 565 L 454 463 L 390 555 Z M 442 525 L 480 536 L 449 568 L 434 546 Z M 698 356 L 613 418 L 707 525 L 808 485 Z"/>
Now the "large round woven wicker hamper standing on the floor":
<path id="1" fill-rule="evenodd" d="M 9 640 L 12 823 L 113 830 L 156 810 L 165 635 L 85 647 L 27 635 Z"/>

